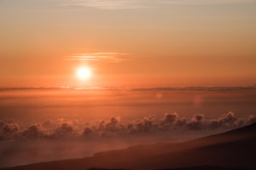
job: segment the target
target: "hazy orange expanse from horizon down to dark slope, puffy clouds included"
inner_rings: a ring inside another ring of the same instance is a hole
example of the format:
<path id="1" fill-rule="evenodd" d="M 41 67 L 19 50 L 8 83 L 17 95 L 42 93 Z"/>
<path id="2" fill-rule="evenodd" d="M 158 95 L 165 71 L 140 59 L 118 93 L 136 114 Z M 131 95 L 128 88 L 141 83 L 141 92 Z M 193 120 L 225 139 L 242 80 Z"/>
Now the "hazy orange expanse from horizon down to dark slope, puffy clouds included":
<path id="1" fill-rule="evenodd" d="M 0 167 L 179 142 L 256 122 L 255 87 L 0 88 Z"/>

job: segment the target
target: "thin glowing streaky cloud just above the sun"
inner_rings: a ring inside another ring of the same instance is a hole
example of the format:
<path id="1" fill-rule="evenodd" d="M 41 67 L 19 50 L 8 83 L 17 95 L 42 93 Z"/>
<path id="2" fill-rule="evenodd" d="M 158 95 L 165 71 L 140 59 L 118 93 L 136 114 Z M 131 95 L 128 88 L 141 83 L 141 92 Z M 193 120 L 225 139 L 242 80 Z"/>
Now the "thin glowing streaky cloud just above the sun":
<path id="1" fill-rule="evenodd" d="M 129 54 L 115 53 L 115 52 L 98 52 L 98 53 L 82 53 L 72 54 L 67 60 L 80 60 L 80 61 L 108 61 L 108 62 L 120 62 L 130 59 Z"/>

